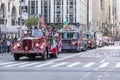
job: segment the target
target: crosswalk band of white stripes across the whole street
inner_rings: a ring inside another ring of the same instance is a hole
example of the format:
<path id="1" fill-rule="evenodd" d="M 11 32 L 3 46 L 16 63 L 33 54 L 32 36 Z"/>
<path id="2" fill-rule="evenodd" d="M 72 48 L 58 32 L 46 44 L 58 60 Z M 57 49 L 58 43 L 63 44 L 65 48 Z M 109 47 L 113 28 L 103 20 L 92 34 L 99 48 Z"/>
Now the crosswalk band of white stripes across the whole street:
<path id="1" fill-rule="evenodd" d="M 28 66 L 32 66 L 32 67 L 60 67 L 60 66 L 64 66 L 66 68 L 73 68 L 75 66 L 80 66 L 79 64 L 83 65 L 81 67 L 84 68 L 89 68 L 92 67 L 93 65 L 97 65 L 96 67 L 98 68 L 105 68 L 108 65 L 110 65 L 110 62 L 103 62 L 103 63 L 96 63 L 96 62 L 89 62 L 89 63 L 82 63 L 82 62 L 46 62 L 46 63 L 42 63 L 42 62 L 34 62 L 34 63 L 29 63 L 29 62 L 2 62 L 0 63 L 1 67 L 28 67 Z M 113 64 L 113 63 L 111 63 Z M 115 68 L 120 68 L 120 62 L 115 63 Z"/>

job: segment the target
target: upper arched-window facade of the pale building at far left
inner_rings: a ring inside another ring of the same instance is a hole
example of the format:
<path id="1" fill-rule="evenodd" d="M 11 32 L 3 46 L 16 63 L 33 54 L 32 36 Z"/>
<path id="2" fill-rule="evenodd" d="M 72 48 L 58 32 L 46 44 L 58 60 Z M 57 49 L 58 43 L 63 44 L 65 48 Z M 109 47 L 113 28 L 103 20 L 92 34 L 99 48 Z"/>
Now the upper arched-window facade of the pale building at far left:
<path id="1" fill-rule="evenodd" d="M 19 0 L 0 0 L 0 24 L 17 25 L 19 17 Z"/>

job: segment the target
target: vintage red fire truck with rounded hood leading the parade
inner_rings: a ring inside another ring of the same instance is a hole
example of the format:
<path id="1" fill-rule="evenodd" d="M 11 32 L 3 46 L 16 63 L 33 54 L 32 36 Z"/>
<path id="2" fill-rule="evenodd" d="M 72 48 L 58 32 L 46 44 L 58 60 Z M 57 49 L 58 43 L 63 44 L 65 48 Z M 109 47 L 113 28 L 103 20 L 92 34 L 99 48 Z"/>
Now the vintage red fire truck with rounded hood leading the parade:
<path id="1" fill-rule="evenodd" d="M 51 42 L 53 42 L 51 36 L 46 35 L 42 29 L 31 29 L 20 41 L 12 43 L 11 53 L 15 60 L 19 60 L 23 56 L 30 59 L 41 56 L 42 60 L 51 57 L 57 58 L 57 45 L 54 41 L 54 51 L 52 51 Z"/>

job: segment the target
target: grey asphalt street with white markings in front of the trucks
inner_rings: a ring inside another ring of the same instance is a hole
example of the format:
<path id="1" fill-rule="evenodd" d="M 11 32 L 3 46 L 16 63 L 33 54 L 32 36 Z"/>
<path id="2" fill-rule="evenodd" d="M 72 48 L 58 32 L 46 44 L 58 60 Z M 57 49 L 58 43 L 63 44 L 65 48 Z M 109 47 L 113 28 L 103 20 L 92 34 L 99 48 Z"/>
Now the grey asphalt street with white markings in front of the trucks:
<path id="1" fill-rule="evenodd" d="M 80 53 L 61 53 L 41 61 L 26 57 L 14 61 L 0 54 L 0 80 L 120 80 L 120 46 L 106 46 Z"/>

